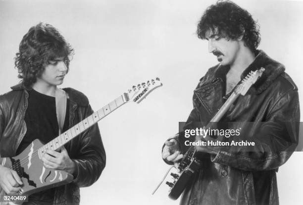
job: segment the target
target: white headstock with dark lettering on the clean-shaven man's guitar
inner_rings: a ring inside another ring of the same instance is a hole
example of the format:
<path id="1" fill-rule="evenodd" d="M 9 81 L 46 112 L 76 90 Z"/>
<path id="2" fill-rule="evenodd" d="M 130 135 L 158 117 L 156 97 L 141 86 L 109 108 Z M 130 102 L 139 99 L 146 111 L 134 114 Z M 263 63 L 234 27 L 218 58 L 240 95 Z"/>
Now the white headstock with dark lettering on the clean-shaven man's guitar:
<path id="1" fill-rule="evenodd" d="M 146 83 L 138 84 L 133 86 L 132 89 L 129 89 L 124 93 L 124 99 L 126 102 L 133 101 L 140 103 L 144 100 L 154 89 L 161 87 L 162 83 L 159 78 L 155 80 L 149 80 Z"/>

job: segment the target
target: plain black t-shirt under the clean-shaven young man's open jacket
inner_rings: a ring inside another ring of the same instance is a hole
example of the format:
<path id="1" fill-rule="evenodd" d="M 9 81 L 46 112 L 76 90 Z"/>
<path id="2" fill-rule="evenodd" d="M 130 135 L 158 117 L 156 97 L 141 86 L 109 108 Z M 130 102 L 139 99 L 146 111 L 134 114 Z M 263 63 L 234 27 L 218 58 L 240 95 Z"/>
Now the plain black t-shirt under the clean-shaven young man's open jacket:
<path id="1" fill-rule="evenodd" d="M 59 135 L 55 98 L 41 94 L 34 89 L 28 91 L 28 93 L 28 107 L 24 117 L 26 134 L 17 149 L 17 155 L 35 139 L 39 139 L 42 143 L 46 144 Z M 66 131 L 69 126 L 68 105 L 69 100 L 67 99 L 63 132 Z M 29 200 L 51 203 L 53 195 L 54 188 L 33 194 L 29 197 Z"/>

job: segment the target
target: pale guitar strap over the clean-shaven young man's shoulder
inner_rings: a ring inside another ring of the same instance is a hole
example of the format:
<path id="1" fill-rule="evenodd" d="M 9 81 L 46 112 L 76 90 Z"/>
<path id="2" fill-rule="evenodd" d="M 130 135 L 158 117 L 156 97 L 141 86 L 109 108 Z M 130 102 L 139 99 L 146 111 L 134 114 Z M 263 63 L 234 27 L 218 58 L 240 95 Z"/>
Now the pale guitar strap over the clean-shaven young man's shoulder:
<path id="1" fill-rule="evenodd" d="M 67 97 L 65 91 L 57 88 L 55 91 L 55 99 L 56 99 L 56 115 L 59 125 L 59 134 L 61 134 L 63 130 L 64 119 L 66 114 Z"/>

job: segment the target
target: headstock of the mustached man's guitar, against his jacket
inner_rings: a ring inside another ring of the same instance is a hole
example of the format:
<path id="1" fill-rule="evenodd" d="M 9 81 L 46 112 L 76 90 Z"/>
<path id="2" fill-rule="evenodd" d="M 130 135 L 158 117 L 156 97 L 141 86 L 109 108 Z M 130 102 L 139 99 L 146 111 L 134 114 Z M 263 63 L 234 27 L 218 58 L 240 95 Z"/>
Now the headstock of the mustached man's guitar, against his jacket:
<path id="1" fill-rule="evenodd" d="M 235 92 L 245 95 L 252 85 L 259 79 L 265 68 L 261 67 L 259 70 L 251 71 L 243 80 L 242 83 L 237 86 Z"/>

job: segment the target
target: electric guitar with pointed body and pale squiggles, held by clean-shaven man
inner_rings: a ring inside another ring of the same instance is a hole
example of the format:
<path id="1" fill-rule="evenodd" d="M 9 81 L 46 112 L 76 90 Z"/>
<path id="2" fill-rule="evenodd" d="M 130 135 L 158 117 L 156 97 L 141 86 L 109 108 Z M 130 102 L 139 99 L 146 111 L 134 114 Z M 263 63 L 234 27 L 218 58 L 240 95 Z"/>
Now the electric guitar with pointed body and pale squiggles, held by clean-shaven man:
<path id="1" fill-rule="evenodd" d="M 94 112 L 69 130 L 63 132 L 49 143 L 43 145 L 40 140 L 36 139 L 21 154 L 14 157 L 0 158 L 0 165 L 15 170 L 23 182 L 21 189 L 14 198 L 19 200 L 21 199 L 20 196 L 31 195 L 36 192 L 70 183 L 73 180 L 71 174 L 62 170 L 44 167 L 41 158 L 46 150 L 58 150 L 61 146 L 78 136 L 118 107 L 131 101 L 139 103 L 154 89 L 160 86 L 162 86 L 162 83 L 159 78 L 156 78 L 155 80 L 152 79 L 151 81 L 139 84 L 138 86 L 133 86 L 117 99 L 106 104 L 100 110 Z M 0 196 L 1 198 L 6 196 L 1 187 Z M 3 205 L 3 199 L 1 199 L 1 201 L 0 205 Z M 15 201 L 14 203 L 19 205 L 22 204 L 20 201 Z"/>

